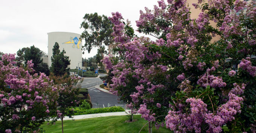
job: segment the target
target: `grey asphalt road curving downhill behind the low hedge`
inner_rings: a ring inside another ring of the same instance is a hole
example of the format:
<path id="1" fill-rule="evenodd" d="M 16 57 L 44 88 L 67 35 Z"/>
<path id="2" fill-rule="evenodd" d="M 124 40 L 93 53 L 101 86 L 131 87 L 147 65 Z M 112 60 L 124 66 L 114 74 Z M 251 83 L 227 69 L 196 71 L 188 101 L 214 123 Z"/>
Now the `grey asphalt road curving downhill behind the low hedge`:
<path id="1" fill-rule="evenodd" d="M 104 74 L 99 74 L 100 76 L 104 76 Z M 91 103 L 93 104 L 93 108 L 98 107 L 111 107 L 111 106 L 123 106 L 117 100 L 118 97 L 113 94 L 109 94 L 106 92 L 102 92 L 99 89 L 96 89 L 94 86 L 98 84 L 103 84 L 100 78 L 98 79 L 93 77 L 84 78 L 84 81 L 81 83 L 82 88 L 87 88 L 88 92 L 91 96 Z"/>

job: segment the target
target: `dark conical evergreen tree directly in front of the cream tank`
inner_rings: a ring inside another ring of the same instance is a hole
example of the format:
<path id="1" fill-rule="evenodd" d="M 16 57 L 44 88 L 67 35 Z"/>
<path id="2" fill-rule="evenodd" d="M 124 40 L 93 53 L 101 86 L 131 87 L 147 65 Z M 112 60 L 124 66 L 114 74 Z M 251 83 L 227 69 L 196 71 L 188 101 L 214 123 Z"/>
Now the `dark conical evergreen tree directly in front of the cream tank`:
<path id="1" fill-rule="evenodd" d="M 70 60 L 68 56 L 65 56 L 65 50 L 62 52 L 59 50 L 59 44 L 56 42 L 53 46 L 53 56 L 51 57 L 51 67 L 50 70 L 56 76 L 62 76 L 69 72 L 68 65 L 70 65 Z"/>

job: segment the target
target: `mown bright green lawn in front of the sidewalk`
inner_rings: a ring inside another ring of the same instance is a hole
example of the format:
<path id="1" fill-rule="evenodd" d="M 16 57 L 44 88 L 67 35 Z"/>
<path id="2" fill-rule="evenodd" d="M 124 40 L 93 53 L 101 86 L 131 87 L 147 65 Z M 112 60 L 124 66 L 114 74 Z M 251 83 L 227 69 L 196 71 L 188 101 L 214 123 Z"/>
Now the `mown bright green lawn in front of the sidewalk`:
<path id="1" fill-rule="evenodd" d="M 140 115 L 135 115 L 137 122 L 125 123 L 127 116 L 108 116 L 82 120 L 65 120 L 63 121 L 64 133 L 138 133 L 147 123 Z M 41 126 L 46 133 L 61 133 L 61 121 L 57 121 L 55 125 L 44 124 Z M 156 130 L 152 128 L 152 133 L 172 133 L 171 130 L 160 127 Z M 141 133 L 148 133 L 148 125 L 144 127 Z"/>

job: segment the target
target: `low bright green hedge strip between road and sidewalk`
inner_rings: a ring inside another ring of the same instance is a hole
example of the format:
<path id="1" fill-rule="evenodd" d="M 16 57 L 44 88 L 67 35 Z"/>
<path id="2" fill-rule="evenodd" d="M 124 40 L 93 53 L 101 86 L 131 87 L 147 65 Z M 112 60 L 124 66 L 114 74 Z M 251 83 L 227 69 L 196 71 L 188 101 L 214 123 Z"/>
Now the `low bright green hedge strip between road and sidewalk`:
<path id="1" fill-rule="evenodd" d="M 97 114 L 97 113 L 109 113 L 109 112 L 124 112 L 125 110 L 122 107 L 105 107 L 105 108 L 92 108 L 92 109 L 79 109 L 76 107 L 74 109 L 74 115 L 82 115 L 82 114 Z"/>

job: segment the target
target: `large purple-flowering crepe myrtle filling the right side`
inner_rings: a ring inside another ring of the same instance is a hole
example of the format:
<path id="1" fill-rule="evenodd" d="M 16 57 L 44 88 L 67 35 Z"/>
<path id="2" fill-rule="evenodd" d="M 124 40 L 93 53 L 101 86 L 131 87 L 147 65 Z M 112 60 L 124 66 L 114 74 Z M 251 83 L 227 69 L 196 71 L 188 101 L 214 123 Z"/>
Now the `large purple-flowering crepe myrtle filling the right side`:
<path id="1" fill-rule="evenodd" d="M 138 31 L 156 41 L 129 37 L 129 24 L 112 13 L 120 56 L 102 60 L 114 75 L 111 92 L 132 102 L 149 127 L 255 133 L 255 1 L 199 0 L 193 6 L 202 10 L 197 19 L 190 18 L 186 0 L 161 0 L 140 11 Z M 216 35 L 220 39 L 212 41 Z"/>

